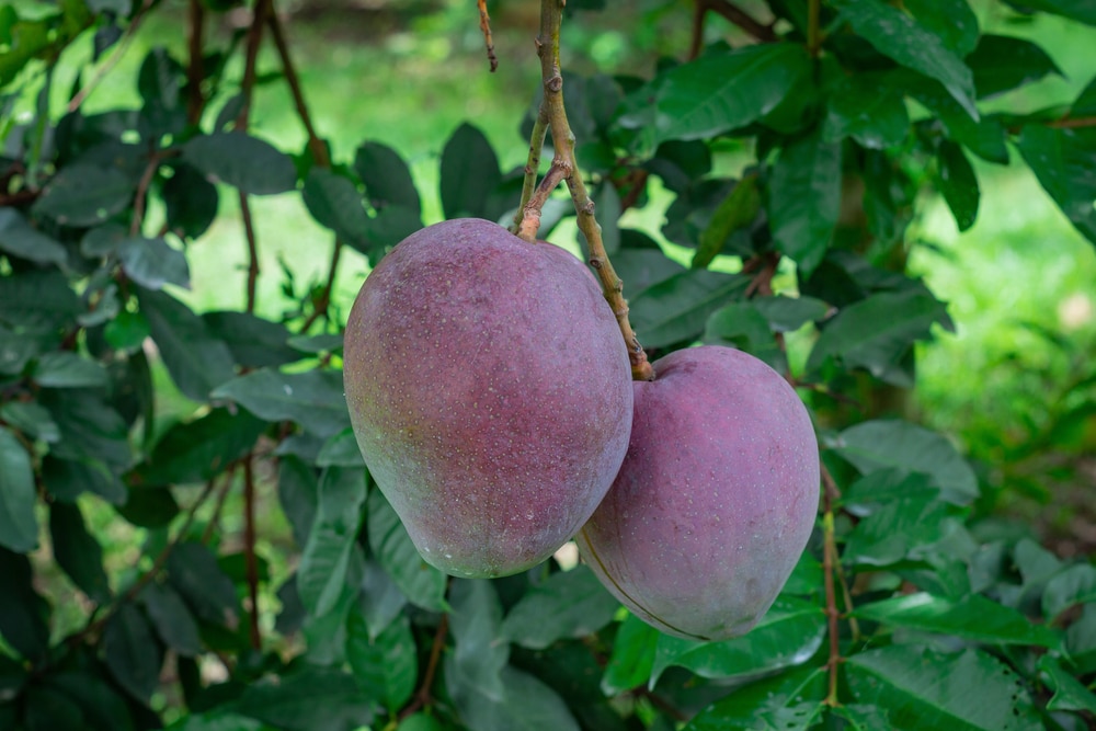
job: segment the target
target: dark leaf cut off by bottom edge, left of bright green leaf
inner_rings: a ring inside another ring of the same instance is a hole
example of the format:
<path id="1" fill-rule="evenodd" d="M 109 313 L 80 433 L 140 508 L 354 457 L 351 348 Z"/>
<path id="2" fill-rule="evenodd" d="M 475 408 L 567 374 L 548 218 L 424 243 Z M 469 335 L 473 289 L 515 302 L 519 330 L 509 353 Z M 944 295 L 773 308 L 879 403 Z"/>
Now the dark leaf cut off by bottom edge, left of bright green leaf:
<path id="1" fill-rule="evenodd" d="M 226 710 L 284 731 L 356 731 L 373 721 L 373 706 L 350 673 L 304 664 L 274 682 L 248 685 Z"/>

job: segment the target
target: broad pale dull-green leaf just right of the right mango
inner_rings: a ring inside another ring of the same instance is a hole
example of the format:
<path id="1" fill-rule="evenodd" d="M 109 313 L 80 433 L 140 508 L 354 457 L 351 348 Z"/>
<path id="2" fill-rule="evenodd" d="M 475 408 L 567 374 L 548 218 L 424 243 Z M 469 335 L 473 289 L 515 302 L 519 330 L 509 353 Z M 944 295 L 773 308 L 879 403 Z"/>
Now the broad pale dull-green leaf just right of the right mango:
<path id="1" fill-rule="evenodd" d="M 860 472 L 897 467 L 924 472 L 945 500 L 966 504 L 978 496 L 978 478 L 947 438 L 905 421 L 866 421 L 841 433 L 837 452 Z"/>

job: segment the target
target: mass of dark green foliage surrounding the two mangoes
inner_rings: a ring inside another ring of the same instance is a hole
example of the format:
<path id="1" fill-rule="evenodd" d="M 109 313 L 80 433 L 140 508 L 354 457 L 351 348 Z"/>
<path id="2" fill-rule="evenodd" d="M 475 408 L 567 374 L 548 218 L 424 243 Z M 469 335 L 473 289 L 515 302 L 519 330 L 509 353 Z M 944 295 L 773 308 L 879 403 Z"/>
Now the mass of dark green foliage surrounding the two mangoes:
<path id="1" fill-rule="evenodd" d="M 1096 23 L 1085 3 L 1025 4 Z M 925 186 L 971 224 L 968 155 L 1004 163 L 1014 144 L 1096 241 L 1083 124 L 1096 82 L 1069 110 L 981 114 L 1055 73 L 1047 55 L 980 34 L 963 0 L 810 8 L 774 1 L 780 37 L 713 44 L 652 79 L 564 84 L 644 344 L 750 351 L 818 418 L 811 546 L 755 630 L 701 643 L 628 616 L 563 560 L 496 581 L 423 563 L 350 432 L 330 285 L 277 322 L 178 296 L 226 194 L 300 195 L 336 254 L 377 261 L 423 224 L 393 150 L 365 142 L 346 163 L 315 137 L 278 150 L 247 132 L 247 73 L 203 114 L 194 100 L 233 83 L 236 46 L 197 62 L 151 53 L 137 108 L 57 113 L 66 44 L 93 34 L 107 50 L 136 26 L 129 3 L 71 0 L 34 20 L 4 5 L 0 106 L 41 92 L 33 118 L 4 127 L 0 160 L 0 728 L 1091 726 L 1096 567 L 972 522 L 964 458 L 868 399 L 909 388 L 914 342 L 950 325 L 903 271 L 904 232 Z M 750 150 L 737 178 L 713 172 L 729 148 Z M 662 233 L 694 251 L 689 266 L 617 222 L 651 176 L 674 196 Z M 447 142 L 447 217 L 506 220 L 521 184 L 473 126 Z M 566 212 L 552 202 L 543 233 Z M 164 373 L 197 406 L 158 429 Z M 256 546 L 256 501 L 274 492 L 299 551 L 288 575 Z M 103 550 L 117 523 L 141 537 L 124 557 Z M 48 593 L 58 572 L 78 590 L 76 626 Z"/>

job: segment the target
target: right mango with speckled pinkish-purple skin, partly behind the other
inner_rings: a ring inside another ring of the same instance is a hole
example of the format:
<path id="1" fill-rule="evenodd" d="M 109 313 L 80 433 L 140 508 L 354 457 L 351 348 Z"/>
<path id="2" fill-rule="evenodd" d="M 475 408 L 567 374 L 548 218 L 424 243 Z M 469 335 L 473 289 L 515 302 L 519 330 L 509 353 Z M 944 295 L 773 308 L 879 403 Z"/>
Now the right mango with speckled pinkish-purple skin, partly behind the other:
<path id="1" fill-rule="evenodd" d="M 807 409 L 757 358 L 705 345 L 637 382 L 628 455 L 576 536 L 602 583 L 655 628 L 747 632 L 807 546 L 819 452 Z"/>

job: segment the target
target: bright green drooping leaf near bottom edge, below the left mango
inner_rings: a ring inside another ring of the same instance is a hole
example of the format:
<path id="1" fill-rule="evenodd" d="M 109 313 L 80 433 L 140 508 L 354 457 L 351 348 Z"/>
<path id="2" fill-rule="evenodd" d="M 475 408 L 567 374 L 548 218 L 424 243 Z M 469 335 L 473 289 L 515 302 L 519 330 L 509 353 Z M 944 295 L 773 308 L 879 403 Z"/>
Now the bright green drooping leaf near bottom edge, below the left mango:
<path id="1" fill-rule="evenodd" d="M 381 701 L 390 713 L 397 713 L 414 694 L 419 662 L 407 615 L 373 637 L 365 618 L 351 612 L 346 660 L 362 693 Z"/>

